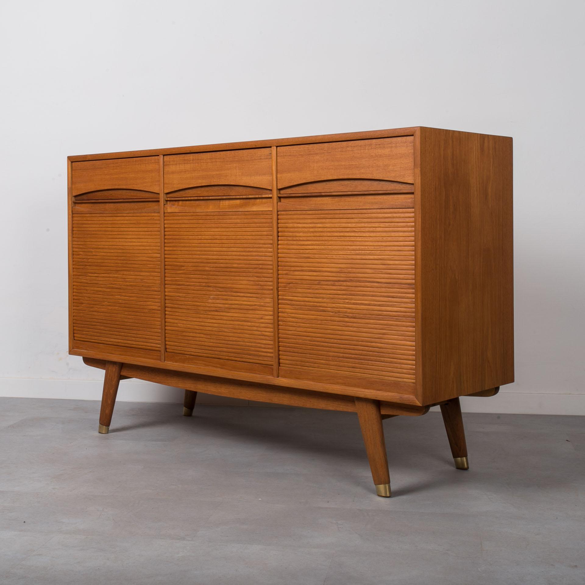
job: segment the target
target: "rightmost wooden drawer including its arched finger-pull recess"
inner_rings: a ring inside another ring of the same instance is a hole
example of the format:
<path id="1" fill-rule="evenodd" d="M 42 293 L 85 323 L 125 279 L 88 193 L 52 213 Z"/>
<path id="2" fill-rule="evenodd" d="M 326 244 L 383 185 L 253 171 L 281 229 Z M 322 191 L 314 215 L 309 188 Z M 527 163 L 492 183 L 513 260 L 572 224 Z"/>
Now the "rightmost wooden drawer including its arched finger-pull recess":
<path id="1" fill-rule="evenodd" d="M 277 161 L 281 195 L 413 189 L 412 136 L 281 146 Z"/>

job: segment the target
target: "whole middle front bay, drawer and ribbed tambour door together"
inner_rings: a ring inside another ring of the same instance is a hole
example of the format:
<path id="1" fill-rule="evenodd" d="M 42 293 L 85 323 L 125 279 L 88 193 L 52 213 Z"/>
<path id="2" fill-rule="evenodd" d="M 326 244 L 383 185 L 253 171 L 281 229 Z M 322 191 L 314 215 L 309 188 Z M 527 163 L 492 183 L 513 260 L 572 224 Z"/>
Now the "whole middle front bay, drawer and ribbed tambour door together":
<path id="1" fill-rule="evenodd" d="M 166 156 L 166 359 L 273 373 L 270 149 Z"/>

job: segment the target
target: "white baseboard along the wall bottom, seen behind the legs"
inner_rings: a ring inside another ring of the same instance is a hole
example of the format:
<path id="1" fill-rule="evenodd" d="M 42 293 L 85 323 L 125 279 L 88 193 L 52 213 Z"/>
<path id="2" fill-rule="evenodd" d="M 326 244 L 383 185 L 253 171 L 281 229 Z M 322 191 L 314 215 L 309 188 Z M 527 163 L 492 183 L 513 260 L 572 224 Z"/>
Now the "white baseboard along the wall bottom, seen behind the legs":
<path id="1" fill-rule="evenodd" d="M 123 380 L 118 400 L 124 402 L 183 403 L 184 391 L 143 382 Z M 101 400 L 102 382 L 98 380 L 47 380 L 35 378 L 0 378 L 0 397 L 69 398 L 71 400 Z M 247 405 L 249 401 L 199 393 L 201 404 Z M 510 414 L 571 414 L 585 415 L 585 394 L 553 394 L 508 392 L 503 388 L 491 398 L 461 399 L 464 412 L 497 412 Z"/>

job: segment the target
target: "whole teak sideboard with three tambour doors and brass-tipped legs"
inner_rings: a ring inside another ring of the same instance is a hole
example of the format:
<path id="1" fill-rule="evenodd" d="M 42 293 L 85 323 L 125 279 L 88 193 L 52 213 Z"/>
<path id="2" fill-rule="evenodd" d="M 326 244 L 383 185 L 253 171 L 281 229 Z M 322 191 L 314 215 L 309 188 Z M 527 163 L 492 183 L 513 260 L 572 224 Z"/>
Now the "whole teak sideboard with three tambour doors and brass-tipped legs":
<path id="1" fill-rule="evenodd" d="M 68 158 L 70 353 L 121 378 L 382 420 L 514 380 L 512 139 L 434 128 Z"/>

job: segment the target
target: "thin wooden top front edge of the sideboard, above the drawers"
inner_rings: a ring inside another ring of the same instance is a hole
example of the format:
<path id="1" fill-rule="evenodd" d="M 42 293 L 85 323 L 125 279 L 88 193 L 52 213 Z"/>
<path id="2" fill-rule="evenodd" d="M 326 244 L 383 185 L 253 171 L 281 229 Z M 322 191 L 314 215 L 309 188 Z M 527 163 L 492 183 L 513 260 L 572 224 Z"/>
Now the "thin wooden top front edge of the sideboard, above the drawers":
<path id="1" fill-rule="evenodd" d="M 195 152 L 212 152 L 214 150 L 237 150 L 248 148 L 266 148 L 270 146 L 291 146 L 294 144 L 315 144 L 319 142 L 339 142 L 341 140 L 364 140 L 371 138 L 390 138 L 395 136 L 412 136 L 423 126 L 411 128 L 394 128 L 387 130 L 368 130 L 367 132 L 345 132 L 341 134 L 324 134 L 317 136 L 298 136 L 294 138 L 278 138 L 270 140 L 250 140 L 247 142 L 228 142 L 219 144 L 202 144 L 201 146 L 180 146 L 175 148 L 127 150 L 125 152 L 109 152 L 101 154 L 79 154 L 69 156 L 71 162 L 82 160 L 123 159 L 139 156 L 159 156 L 160 154 L 186 154 Z"/>

